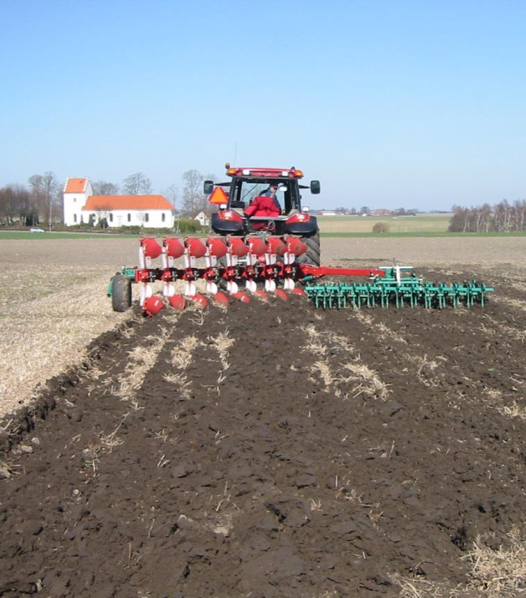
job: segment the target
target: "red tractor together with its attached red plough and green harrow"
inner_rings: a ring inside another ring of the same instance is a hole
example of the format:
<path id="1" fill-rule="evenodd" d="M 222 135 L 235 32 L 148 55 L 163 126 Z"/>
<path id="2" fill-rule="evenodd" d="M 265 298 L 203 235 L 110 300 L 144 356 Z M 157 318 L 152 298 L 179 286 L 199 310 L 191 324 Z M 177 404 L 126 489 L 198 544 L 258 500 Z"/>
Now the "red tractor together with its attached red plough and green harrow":
<path id="1" fill-rule="evenodd" d="M 425 283 L 412 267 L 338 268 L 320 266 L 318 223 L 301 207 L 301 189 L 320 192 L 319 181 L 300 185 L 303 172 L 296 168 L 233 168 L 226 165 L 231 180 L 205 181 L 205 194 L 219 210 L 212 214 L 212 229 L 221 237 L 143 237 L 139 265 L 123 267 L 110 281 L 108 296 L 115 311 L 131 306 L 131 285 L 139 286 L 139 305 L 144 314 L 155 315 L 166 304 L 184 309 L 187 301 L 202 307 L 208 299 L 198 292 L 198 281 L 217 304 L 230 298 L 248 303 L 251 294 L 269 299 L 269 294 L 287 299 L 288 294 L 309 297 L 316 307 L 387 308 L 394 303 L 414 307 L 470 307 L 484 305 L 484 295 L 493 291 L 476 281 Z M 152 262 L 160 258 L 160 266 Z M 182 262 L 182 263 L 181 263 Z M 368 283 L 312 284 L 322 276 L 367 276 Z M 162 295 L 153 283 L 162 282 Z M 183 283 L 183 284 L 181 284 Z M 307 283 L 307 284 L 306 284 Z M 260 285 L 258 287 L 258 285 Z M 262 287 L 262 288 L 261 288 Z M 303 287 L 303 288 L 302 288 Z M 243 289 L 244 290 L 241 290 Z M 226 290 L 227 294 L 223 292 Z"/>

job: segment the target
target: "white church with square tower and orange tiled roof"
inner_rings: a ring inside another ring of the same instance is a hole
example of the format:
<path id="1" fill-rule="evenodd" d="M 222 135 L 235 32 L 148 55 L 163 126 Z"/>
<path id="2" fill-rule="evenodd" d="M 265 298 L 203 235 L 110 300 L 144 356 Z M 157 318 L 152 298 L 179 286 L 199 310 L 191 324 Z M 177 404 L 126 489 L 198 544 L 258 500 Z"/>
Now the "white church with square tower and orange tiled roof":
<path id="1" fill-rule="evenodd" d="M 92 195 L 88 178 L 68 178 L 64 188 L 64 224 L 101 219 L 108 226 L 171 228 L 173 206 L 162 195 Z"/>

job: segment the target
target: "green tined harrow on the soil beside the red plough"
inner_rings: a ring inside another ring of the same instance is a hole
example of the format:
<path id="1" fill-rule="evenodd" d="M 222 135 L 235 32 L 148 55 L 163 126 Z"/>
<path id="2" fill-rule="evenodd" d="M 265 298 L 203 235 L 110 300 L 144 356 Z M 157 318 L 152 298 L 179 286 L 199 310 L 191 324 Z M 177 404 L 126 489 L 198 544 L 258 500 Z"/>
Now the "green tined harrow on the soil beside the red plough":
<path id="1" fill-rule="evenodd" d="M 444 308 L 448 305 L 468 308 L 474 304 L 484 307 L 486 293 L 493 288 L 477 281 L 464 283 L 430 283 L 416 276 L 412 267 L 380 268 L 385 276 L 372 276 L 368 283 L 307 284 L 305 294 L 316 308 L 341 309 L 348 306 L 397 308 L 405 306 Z"/>

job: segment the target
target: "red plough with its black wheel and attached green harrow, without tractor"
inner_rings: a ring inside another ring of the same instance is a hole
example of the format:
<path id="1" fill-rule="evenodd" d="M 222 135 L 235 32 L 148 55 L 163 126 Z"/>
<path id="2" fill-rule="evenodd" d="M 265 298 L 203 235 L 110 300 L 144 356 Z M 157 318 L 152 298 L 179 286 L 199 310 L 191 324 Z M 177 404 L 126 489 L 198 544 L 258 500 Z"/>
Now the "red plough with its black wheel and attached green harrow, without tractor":
<path id="1" fill-rule="evenodd" d="M 443 308 L 451 305 L 484 306 L 487 292 L 493 288 L 477 281 L 464 283 L 429 283 L 416 276 L 412 267 L 393 265 L 379 268 L 320 267 L 298 263 L 296 258 L 307 247 L 294 235 L 248 235 L 246 237 L 155 238 L 144 237 L 139 247 L 139 266 L 123 267 L 108 288 L 115 311 L 131 306 L 131 285 L 139 286 L 139 305 L 146 315 L 155 315 L 165 301 L 184 309 L 187 301 L 201 306 L 207 297 L 198 292 L 196 281 L 204 281 L 205 293 L 223 306 L 230 298 L 248 303 L 250 295 L 268 299 L 269 294 L 287 299 L 287 293 L 308 297 L 316 308 L 346 306 L 387 308 L 391 304 Z M 161 258 L 160 267 L 152 260 Z M 175 260 L 182 260 L 182 267 Z M 202 265 L 198 267 L 198 260 Z M 359 276 L 362 283 L 313 283 L 322 276 Z M 153 283 L 162 281 L 162 297 L 153 292 Z M 176 281 L 183 282 L 183 292 L 176 292 Z M 301 284 L 301 287 L 298 286 Z M 258 287 L 258 285 L 260 285 Z M 241 290 L 244 289 L 244 290 Z M 226 291 L 226 292 L 224 292 Z"/>

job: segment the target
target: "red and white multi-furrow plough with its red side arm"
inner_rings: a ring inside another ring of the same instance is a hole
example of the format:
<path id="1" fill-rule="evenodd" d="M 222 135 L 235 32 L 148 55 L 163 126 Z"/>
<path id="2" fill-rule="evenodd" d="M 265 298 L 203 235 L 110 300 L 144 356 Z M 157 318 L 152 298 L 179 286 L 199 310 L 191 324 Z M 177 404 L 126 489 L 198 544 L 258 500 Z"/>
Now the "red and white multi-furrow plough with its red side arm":
<path id="1" fill-rule="evenodd" d="M 175 309 L 183 309 L 187 299 L 205 307 L 207 299 L 200 294 L 196 281 L 205 281 L 205 290 L 220 305 L 228 305 L 228 295 L 238 301 L 250 301 L 249 294 L 268 299 L 274 294 L 287 299 L 286 291 L 304 295 L 296 287 L 303 279 L 325 275 L 384 276 L 375 268 L 331 268 L 298 263 L 297 256 L 307 247 L 294 235 L 199 238 L 164 238 L 160 245 L 154 238 L 142 238 L 139 249 L 139 267 L 134 281 L 139 285 L 139 304 L 148 315 L 155 315 L 164 306 L 162 299 L 153 294 L 152 283 L 164 283 L 162 294 Z M 161 267 L 152 267 L 152 260 L 161 258 Z M 182 258 L 176 267 L 174 261 Z M 197 265 L 197 260 L 202 260 Z M 177 294 L 174 283 L 183 281 L 183 294 Z M 257 288 L 262 284 L 264 290 Z M 244 286 L 244 290 L 240 289 Z M 220 288 L 226 289 L 226 294 Z"/>

